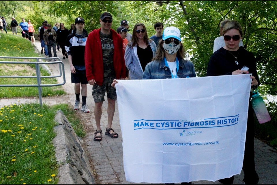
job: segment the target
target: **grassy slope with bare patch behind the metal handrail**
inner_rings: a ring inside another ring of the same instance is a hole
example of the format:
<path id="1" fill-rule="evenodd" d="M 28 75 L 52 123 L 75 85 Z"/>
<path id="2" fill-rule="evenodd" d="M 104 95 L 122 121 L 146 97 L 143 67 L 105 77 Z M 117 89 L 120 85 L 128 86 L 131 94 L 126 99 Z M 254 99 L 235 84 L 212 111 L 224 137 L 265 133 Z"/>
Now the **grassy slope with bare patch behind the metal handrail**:
<path id="1" fill-rule="evenodd" d="M 0 56 L 41 57 L 29 40 L 11 34 L 1 34 Z M 0 59 L 0 61 L 27 61 L 26 59 Z M 35 62 L 36 60 L 30 60 Z M 50 76 L 40 67 L 41 76 Z M 0 64 L 1 76 L 36 76 L 34 64 Z M 36 78 L 0 78 L 1 84 L 37 84 Z M 55 78 L 42 78 L 42 84 L 57 84 Z M 42 97 L 66 94 L 61 86 L 42 87 Z M 37 87 L 0 87 L 0 98 L 38 97 Z"/>

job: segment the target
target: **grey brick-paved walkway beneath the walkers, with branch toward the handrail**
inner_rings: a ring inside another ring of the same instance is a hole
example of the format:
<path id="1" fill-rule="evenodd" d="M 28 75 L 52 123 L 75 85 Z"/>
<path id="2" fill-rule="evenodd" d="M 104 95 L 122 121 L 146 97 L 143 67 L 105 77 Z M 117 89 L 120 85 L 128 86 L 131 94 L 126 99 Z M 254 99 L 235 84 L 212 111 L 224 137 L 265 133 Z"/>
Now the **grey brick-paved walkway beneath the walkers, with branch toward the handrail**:
<path id="1" fill-rule="evenodd" d="M 40 43 L 37 41 L 36 47 L 41 51 Z M 53 51 L 52 51 L 53 52 Z M 63 58 L 62 53 L 57 53 L 57 56 Z M 74 85 L 71 84 L 70 67 L 68 60 L 62 60 L 65 64 L 65 78 L 66 83 L 63 85 L 64 90 L 68 93 L 62 97 L 43 98 L 42 101 L 49 105 L 56 103 L 69 103 L 74 104 Z M 49 68 L 53 74 L 57 73 L 57 66 L 53 65 Z M 62 79 L 58 79 L 62 81 Z M 96 184 L 149 184 L 149 183 L 130 183 L 125 179 L 123 169 L 123 154 L 122 154 L 122 137 L 119 125 L 119 116 L 116 103 L 115 116 L 113 119 L 113 128 L 119 134 L 119 138 L 112 139 L 106 136 L 105 128 L 107 125 L 107 101 L 103 102 L 102 106 L 102 141 L 93 141 L 94 132 L 96 130 L 96 123 L 93 114 L 94 101 L 92 97 L 92 86 L 88 84 L 87 92 L 87 106 L 90 108 L 90 113 L 84 113 L 81 110 L 77 114 L 81 114 L 85 121 L 83 124 L 86 128 L 87 136 L 84 138 L 84 149 L 87 153 L 91 166 L 93 167 L 94 175 L 96 177 Z M 107 99 L 105 97 L 105 99 Z M 18 102 L 19 101 L 19 102 Z M 0 99 L 0 106 L 10 105 L 11 103 L 25 103 L 25 102 L 38 102 L 38 99 Z M 272 147 L 266 145 L 258 139 L 255 139 L 255 161 L 256 170 L 259 174 L 259 184 L 277 184 L 277 151 Z M 97 181 L 99 180 L 99 181 Z M 234 184 L 243 184 L 243 172 L 241 175 L 235 175 Z M 218 181 L 196 181 L 192 184 L 221 184 Z"/>

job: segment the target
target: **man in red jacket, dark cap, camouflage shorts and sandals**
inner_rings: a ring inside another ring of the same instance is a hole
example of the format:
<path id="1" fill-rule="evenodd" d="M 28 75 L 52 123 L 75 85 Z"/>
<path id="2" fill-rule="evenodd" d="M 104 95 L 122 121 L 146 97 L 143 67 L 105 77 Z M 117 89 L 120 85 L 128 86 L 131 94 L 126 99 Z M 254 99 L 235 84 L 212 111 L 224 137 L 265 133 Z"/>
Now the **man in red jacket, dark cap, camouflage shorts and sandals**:
<path id="1" fill-rule="evenodd" d="M 95 141 L 102 140 L 100 119 L 105 92 L 108 97 L 108 125 L 105 135 L 118 138 L 118 134 L 112 129 L 117 97 L 115 88 L 111 84 L 114 79 L 125 79 L 126 77 L 122 38 L 115 30 L 111 29 L 113 16 L 109 12 L 104 12 L 99 21 L 101 28 L 95 29 L 89 34 L 85 47 L 87 81 L 93 86 L 92 95 L 95 102 Z"/>

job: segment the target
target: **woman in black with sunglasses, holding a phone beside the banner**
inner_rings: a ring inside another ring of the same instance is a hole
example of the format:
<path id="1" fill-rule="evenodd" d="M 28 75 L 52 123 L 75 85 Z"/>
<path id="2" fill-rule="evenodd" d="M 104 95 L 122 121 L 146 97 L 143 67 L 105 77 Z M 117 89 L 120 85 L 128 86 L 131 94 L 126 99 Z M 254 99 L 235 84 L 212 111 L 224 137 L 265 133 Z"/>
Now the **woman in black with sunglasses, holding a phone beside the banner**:
<path id="1" fill-rule="evenodd" d="M 222 30 L 225 46 L 218 49 L 210 58 L 207 67 L 207 76 L 240 75 L 252 73 L 251 88 L 260 84 L 256 70 L 256 59 L 253 54 L 239 47 L 242 38 L 242 26 L 237 21 L 229 21 Z M 249 70 L 241 70 L 244 66 Z M 247 97 L 250 99 L 250 96 Z M 254 162 L 254 117 L 249 100 L 246 141 L 242 169 L 244 171 L 245 184 L 258 184 L 259 176 L 255 170 Z M 228 147 L 228 146 L 227 146 Z M 233 147 L 233 146 L 230 146 Z M 226 166 L 228 168 L 228 166 Z M 223 184 L 232 184 L 234 176 L 219 180 Z"/>

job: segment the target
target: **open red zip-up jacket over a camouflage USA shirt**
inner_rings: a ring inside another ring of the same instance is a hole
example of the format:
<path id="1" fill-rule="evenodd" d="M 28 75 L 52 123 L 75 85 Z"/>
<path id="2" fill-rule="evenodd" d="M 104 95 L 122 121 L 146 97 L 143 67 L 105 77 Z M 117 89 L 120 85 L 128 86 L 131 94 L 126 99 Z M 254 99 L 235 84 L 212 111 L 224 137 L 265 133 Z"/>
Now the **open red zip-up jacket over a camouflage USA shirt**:
<path id="1" fill-rule="evenodd" d="M 87 81 L 95 79 L 96 83 L 100 86 L 103 84 L 104 67 L 103 67 L 103 55 L 102 45 L 100 41 L 100 30 L 94 29 L 89 33 L 87 37 L 87 43 L 85 47 L 85 66 Z M 116 79 L 126 77 L 126 67 L 123 56 L 123 44 L 122 38 L 115 30 L 110 29 L 112 32 L 114 54 L 113 54 L 113 66 L 115 69 Z"/>

